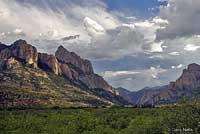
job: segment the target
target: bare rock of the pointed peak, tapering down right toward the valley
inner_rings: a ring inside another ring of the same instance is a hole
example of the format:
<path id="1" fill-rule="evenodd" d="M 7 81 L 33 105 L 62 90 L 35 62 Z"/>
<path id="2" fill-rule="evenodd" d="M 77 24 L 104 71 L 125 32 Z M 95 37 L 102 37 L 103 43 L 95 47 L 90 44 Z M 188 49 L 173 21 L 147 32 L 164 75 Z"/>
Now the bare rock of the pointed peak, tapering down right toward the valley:
<path id="1" fill-rule="evenodd" d="M 65 77 L 80 81 L 90 89 L 101 88 L 119 94 L 101 76 L 93 72 L 90 61 L 82 59 L 74 52 L 69 52 L 63 46 L 58 47 L 55 55 L 62 64 L 61 70 Z"/>

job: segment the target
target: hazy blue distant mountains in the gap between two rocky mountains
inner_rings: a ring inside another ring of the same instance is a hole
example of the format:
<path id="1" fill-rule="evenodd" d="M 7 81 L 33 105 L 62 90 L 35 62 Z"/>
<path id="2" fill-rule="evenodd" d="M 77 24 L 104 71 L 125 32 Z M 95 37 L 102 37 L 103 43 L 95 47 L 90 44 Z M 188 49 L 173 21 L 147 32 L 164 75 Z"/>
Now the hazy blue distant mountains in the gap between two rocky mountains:
<path id="1" fill-rule="evenodd" d="M 148 102 L 153 96 L 159 94 L 165 86 L 163 87 L 145 87 L 139 91 L 129 91 L 122 87 L 117 88 L 120 96 L 127 100 L 131 104 L 135 105 L 144 105 Z"/>

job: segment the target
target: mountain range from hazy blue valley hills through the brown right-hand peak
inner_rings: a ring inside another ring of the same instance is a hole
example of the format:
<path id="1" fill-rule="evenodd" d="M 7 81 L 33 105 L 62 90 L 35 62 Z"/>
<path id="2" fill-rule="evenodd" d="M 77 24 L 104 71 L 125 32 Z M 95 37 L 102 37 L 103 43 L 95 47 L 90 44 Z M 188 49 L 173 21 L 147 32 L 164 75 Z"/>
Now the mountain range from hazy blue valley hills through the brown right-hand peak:
<path id="1" fill-rule="evenodd" d="M 137 105 L 160 105 L 176 103 L 184 97 L 191 98 L 200 94 L 200 65 L 190 64 L 183 70 L 182 75 L 169 85 L 162 87 L 144 88 L 137 92 L 130 92 L 118 88 L 120 95 L 128 102 Z"/>

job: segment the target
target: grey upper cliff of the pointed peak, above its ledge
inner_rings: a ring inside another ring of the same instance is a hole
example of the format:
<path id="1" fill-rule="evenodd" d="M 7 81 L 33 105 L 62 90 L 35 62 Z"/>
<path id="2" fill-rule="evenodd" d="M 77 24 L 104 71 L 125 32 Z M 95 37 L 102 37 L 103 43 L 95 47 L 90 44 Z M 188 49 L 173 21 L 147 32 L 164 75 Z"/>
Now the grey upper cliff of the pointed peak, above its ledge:
<path id="1" fill-rule="evenodd" d="M 60 62 L 72 64 L 77 68 L 81 69 L 81 71 L 83 71 L 84 74 L 94 73 L 90 61 L 82 59 L 74 52 L 69 52 L 63 46 L 58 47 L 55 56 Z"/>

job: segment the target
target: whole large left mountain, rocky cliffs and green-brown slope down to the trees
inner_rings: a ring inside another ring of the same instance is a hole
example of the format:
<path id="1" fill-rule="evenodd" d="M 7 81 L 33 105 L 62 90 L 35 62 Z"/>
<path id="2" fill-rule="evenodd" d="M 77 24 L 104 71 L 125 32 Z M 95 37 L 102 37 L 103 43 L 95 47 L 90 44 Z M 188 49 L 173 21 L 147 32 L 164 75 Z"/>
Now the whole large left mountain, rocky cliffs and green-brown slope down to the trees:
<path id="1" fill-rule="evenodd" d="M 63 46 L 39 53 L 25 40 L 0 43 L 0 107 L 128 104 L 93 71 L 90 61 Z"/>

